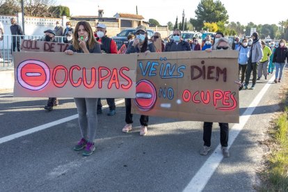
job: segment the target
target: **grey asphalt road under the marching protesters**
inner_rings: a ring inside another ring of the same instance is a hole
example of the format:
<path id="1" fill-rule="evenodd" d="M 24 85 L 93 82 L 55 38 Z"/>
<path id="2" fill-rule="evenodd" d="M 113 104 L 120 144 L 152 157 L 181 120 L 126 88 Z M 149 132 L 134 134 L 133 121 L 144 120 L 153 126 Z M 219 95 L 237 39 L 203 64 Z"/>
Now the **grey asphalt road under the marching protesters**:
<path id="1" fill-rule="evenodd" d="M 255 90 L 241 90 L 241 114 L 267 81 L 260 80 Z M 259 141 L 279 109 L 278 94 L 284 83 L 271 84 L 232 143 L 231 157 L 216 166 L 211 178 L 200 181 L 207 182 L 203 191 L 255 190 L 265 152 Z M 77 114 L 73 99 L 61 99 L 51 112 L 42 109 L 46 100 L 15 98 L 11 90 L 1 90 L 0 140 Z M 107 109 L 98 115 L 97 149 L 90 157 L 72 150 L 81 138 L 76 118 L 0 143 L 0 191 L 183 191 L 219 144 L 216 123 L 213 150 L 207 156 L 199 153 L 202 122 L 151 117 L 148 134 L 141 137 L 139 115 L 135 115 L 134 131 L 123 134 L 124 104 L 116 110 L 111 117 L 105 114 Z"/>

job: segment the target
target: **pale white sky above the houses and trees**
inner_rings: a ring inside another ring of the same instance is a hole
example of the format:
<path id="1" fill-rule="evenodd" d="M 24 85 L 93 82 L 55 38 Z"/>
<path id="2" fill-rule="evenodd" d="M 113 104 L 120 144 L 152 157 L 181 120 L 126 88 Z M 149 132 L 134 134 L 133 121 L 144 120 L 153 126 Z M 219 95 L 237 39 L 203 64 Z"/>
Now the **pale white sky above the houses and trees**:
<path id="1" fill-rule="evenodd" d="M 200 0 L 142 0 L 142 1 L 119 1 L 119 0 L 55 0 L 57 5 L 68 6 L 70 14 L 97 15 L 98 6 L 104 10 L 104 17 L 113 17 L 115 13 L 134 13 L 138 6 L 138 14 L 166 25 L 167 22 L 175 24 L 176 16 L 182 18 L 183 9 L 187 21 L 195 17 L 195 9 Z M 230 22 L 248 24 L 278 24 L 288 19 L 288 0 L 222 0 L 229 15 Z M 282 11 L 281 11 L 282 8 Z"/>

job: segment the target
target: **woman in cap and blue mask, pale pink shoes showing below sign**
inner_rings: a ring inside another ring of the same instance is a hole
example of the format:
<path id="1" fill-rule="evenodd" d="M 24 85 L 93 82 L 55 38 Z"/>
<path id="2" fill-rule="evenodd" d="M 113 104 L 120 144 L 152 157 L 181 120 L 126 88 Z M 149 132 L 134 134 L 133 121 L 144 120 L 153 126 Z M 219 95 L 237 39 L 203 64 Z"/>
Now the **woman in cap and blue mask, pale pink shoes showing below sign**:
<path id="1" fill-rule="evenodd" d="M 131 53 L 145 53 L 148 52 L 155 52 L 156 49 L 154 47 L 154 44 L 152 42 L 148 41 L 147 38 L 147 32 L 145 26 L 138 26 L 135 31 L 135 40 L 132 42 L 129 42 L 126 54 Z M 122 129 L 122 132 L 128 133 L 132 129 L 132 123 L 133 123 L 133 114 L 131 114 L 131 99 L 125 99 L 125 107 L 126 107 L 126 117 L 125 122 L 127 125 Z M 147 134 L 147 126 L 148 126 L 148 120 L 149 116 L 147 115 L 141 115 L 140 123 L 140 135 L 145 136 Z"/>

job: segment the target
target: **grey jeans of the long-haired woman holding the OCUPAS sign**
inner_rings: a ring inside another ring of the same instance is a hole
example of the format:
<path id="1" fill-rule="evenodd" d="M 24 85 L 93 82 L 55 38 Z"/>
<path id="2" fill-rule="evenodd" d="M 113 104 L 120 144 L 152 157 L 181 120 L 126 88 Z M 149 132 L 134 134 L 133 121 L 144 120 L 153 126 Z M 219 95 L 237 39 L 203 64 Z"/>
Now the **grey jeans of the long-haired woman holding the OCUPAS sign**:
<path id="1" fill-rule="evenodd" d="M 93 143 L 97 129 L 97 98 L 74 98 L 82 138 Z"/>

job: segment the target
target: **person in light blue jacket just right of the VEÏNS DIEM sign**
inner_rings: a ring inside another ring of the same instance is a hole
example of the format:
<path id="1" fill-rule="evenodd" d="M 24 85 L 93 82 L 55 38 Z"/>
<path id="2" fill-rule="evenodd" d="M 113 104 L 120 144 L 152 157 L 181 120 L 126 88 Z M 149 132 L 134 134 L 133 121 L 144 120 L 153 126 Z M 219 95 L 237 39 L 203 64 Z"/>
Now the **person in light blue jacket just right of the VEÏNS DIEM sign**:
<path id="1" fill-rule="evenodd" d="M 246 38 L 243 39 L 243 44 L 240 45 L 240 47 L 237 49 L 239 51 L 239 56 L 238 56 L 238 63 L 239 63 L 239 76 L 241 72 L 241 83 L 243 83 L 245 74 L 246 74 L 246 69 L 247 69 L 247 63 L 248 63 L 248 58 L 249 58 L 249 52 L 250 52 L 250 47 L 248 47 L 248 40 Z"/>

